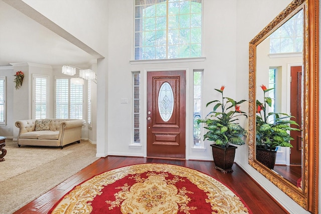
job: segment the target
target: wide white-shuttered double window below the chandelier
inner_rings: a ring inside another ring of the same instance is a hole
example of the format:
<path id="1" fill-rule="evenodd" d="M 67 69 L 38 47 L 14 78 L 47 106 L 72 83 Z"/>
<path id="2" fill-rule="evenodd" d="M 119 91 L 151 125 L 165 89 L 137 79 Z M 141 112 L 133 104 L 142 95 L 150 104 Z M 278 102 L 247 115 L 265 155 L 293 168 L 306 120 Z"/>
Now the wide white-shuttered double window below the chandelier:
<path id="1" fill-rule="evenodd" d="M 56 78 L 56 118 L 82 119 L 83 85 L 70 79 Z"/>

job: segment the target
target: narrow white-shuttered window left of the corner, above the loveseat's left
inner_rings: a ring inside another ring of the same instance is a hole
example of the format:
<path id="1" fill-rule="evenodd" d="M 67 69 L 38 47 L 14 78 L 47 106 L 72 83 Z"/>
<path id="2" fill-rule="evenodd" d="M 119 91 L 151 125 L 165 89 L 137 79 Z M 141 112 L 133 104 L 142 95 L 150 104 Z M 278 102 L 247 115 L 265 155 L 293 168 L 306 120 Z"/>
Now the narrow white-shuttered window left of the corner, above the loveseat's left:
<path id="1" fill-rule="evenodd" d="M 33 75 L 33 118 L 47 118 L 48 76 Z"/>

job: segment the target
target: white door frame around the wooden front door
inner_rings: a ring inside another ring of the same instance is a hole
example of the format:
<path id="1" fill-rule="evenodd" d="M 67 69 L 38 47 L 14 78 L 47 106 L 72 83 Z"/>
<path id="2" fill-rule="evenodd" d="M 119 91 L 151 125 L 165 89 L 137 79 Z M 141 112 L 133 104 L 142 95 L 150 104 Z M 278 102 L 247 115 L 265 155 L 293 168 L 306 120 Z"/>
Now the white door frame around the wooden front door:
<path id="1" fill-rule="evenodd" d="M 189 103 L 190 103 L 190 90 L 189 90 L 189 86 L 190 86 L 190 72 L 189 72 L 189 68 L 188 67 L 173 67 L 173 68 L 146 68 L 144 69 L 143 72 L 143 102 L 141 103 L 142 109 L 142 116 L 141 116 L 141 127 L 140 127 L 140 131 L 141 131 L 141 135 L 140 135 L 140 139 L 142 142 L 142 146 L 143 146 L 143 156 L 147 157 L 147 72 L 155 72 L 155 71 L 181 71 L 184 70 L 186 71 L 186 98 L 185 98 L 185 112 L 186 112 L 186 122 L 185 122 L 185 139 L 186 139 L 186 146 L 185 146 L 185 157 L 186 160 L 189 159 L 189 147 L 190 147 L 190 137 L 189 137 L 189 127 L 190 127 L 190 112 L 189 112 Z M 193 87 L 192 87 L 193 88 Z"/>

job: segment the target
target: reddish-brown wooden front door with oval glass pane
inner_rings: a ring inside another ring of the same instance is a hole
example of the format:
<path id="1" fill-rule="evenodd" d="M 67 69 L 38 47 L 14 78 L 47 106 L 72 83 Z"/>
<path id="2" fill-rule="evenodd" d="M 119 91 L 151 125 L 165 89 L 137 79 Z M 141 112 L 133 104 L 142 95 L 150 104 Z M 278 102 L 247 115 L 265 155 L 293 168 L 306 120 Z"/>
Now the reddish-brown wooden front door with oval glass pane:
<path id="1" fill-rule="evenodd" d="M 147 72 L 147 157 L 185 158 L 185 76 Z"/>

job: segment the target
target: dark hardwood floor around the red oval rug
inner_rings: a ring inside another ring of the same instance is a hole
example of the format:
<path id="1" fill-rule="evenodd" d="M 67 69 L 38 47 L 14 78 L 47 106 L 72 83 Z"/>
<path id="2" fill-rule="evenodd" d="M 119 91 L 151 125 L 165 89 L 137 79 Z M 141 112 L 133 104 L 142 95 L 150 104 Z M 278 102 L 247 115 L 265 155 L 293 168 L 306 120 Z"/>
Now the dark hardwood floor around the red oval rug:
<path id="1" fill-rule="evenodd" d="M 210 161 L 191 161 L 191 160 L 167 160 L 141 157 L 115 157 L 108 156 L 100 158 L 93 164 L 87 166 L 55 188 L 49 190 L 39 198 L 25 205 L 18 213 L 47 213 L 48 210 L 75 185 L 91 178 L 104 171 L 139 163 L 169 163 L 180 166 L 190 167 L 215 177 L 236 191 L 239 196 L 252 210 L 253 214 L 282 214 L 286 212 L 275 202 L 255 181 L 253 181 L 239 166 L 233 165 L 233 172 L 222 173 L 214 169 L 214 163 Z"/>

